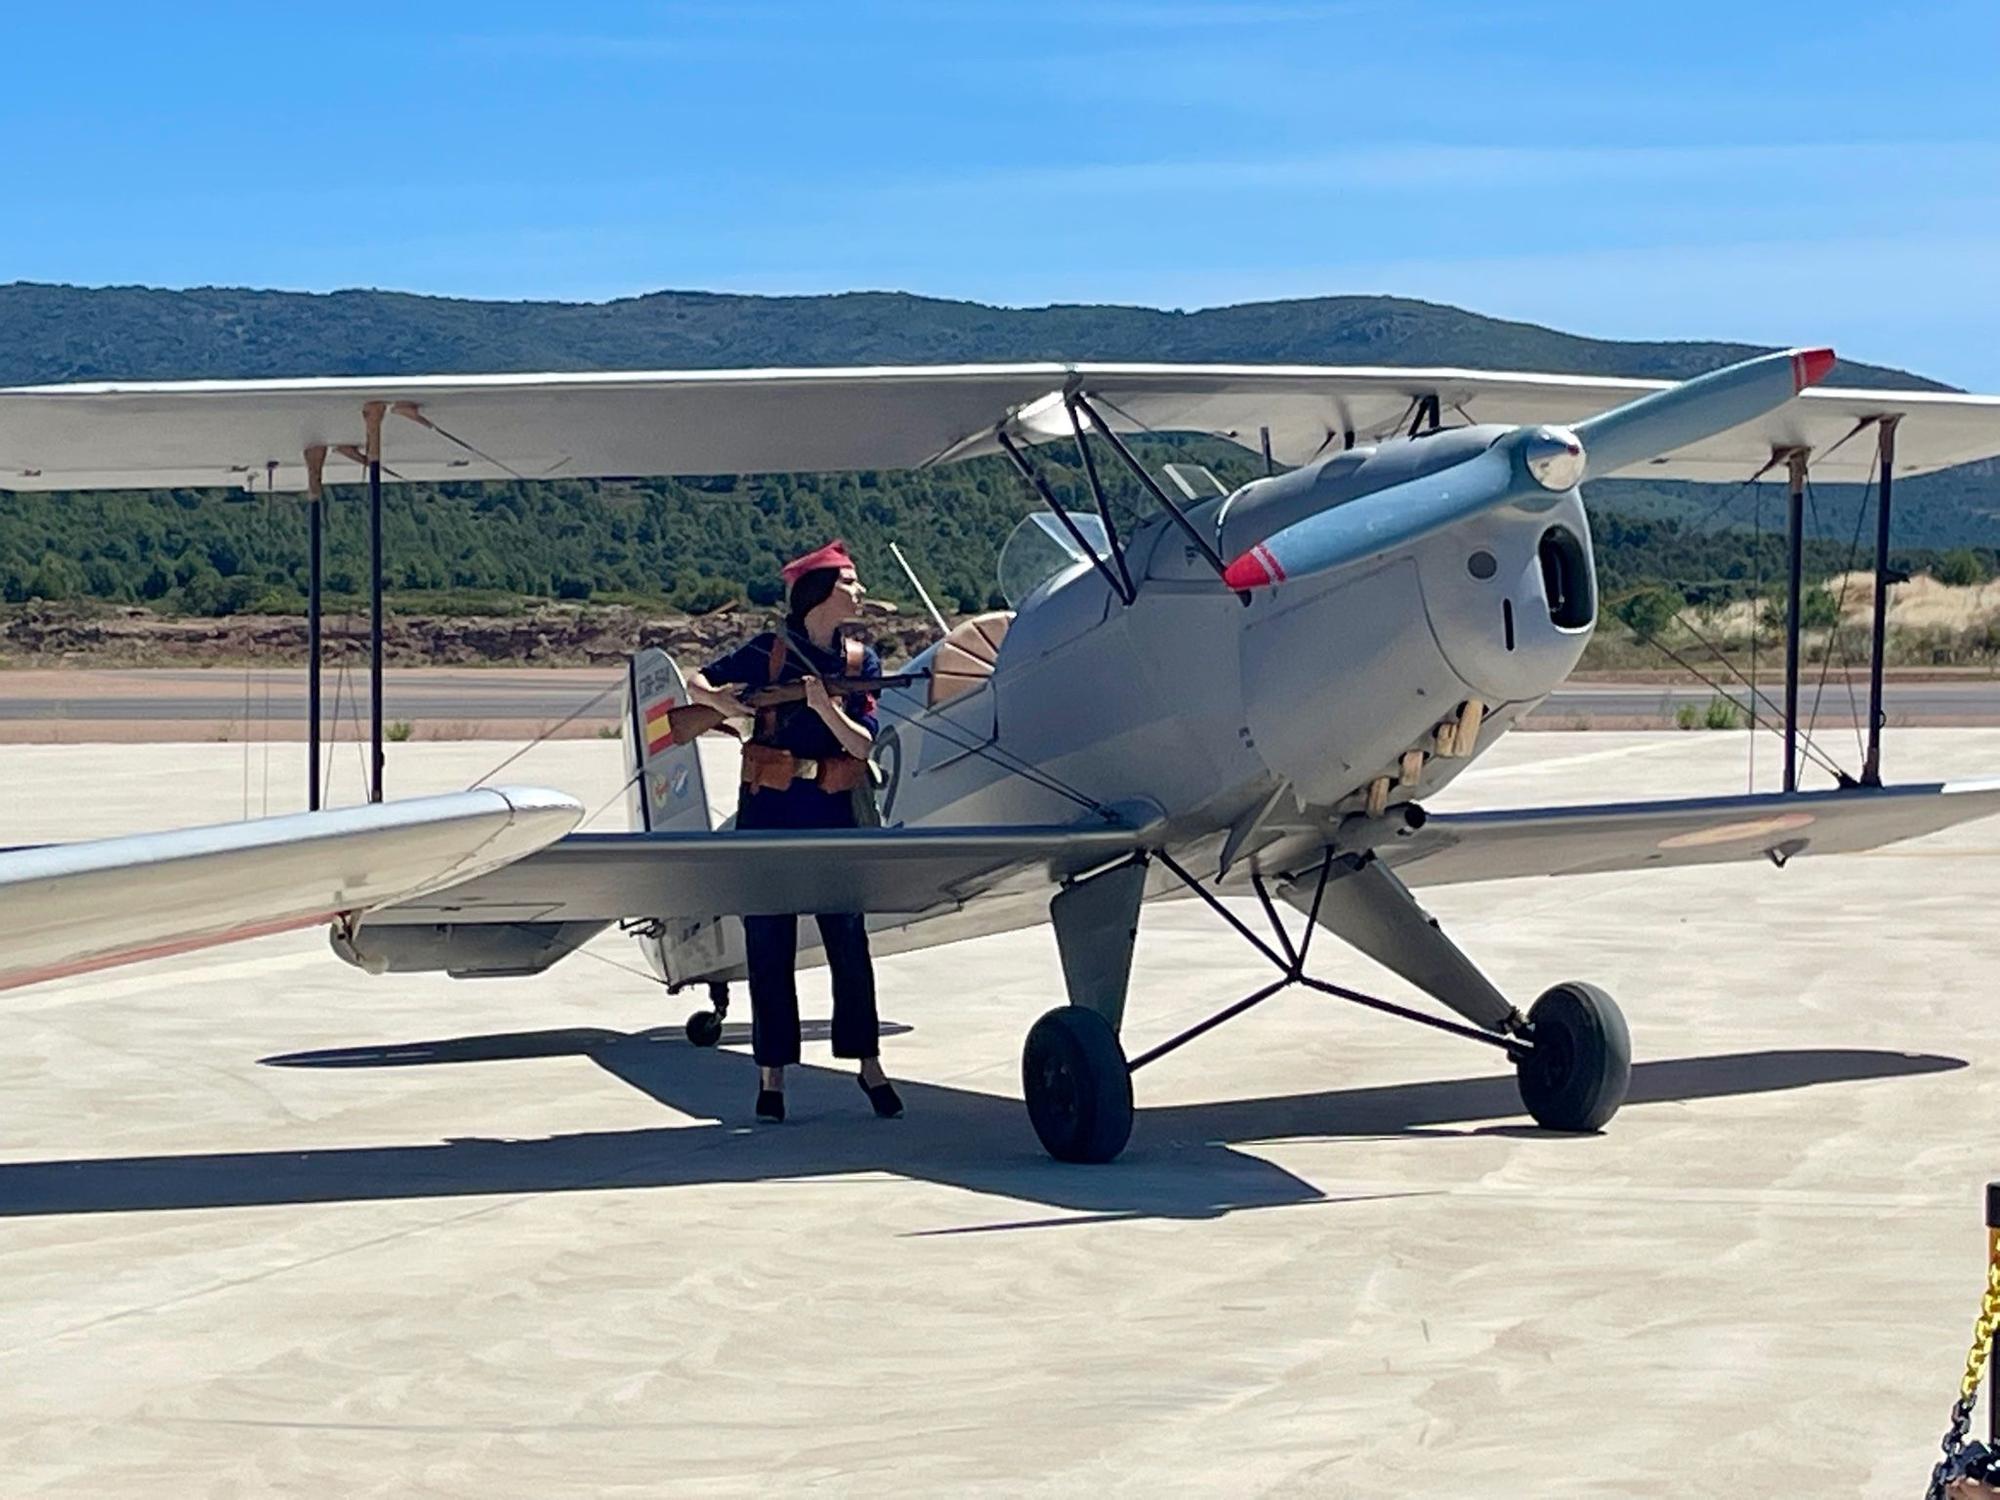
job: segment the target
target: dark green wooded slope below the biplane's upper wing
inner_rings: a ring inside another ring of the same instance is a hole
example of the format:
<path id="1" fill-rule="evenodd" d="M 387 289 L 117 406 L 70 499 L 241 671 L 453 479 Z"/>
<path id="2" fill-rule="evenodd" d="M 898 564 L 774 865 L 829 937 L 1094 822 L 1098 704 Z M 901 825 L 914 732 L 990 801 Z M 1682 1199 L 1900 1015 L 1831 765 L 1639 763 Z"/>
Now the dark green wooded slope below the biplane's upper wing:
<path id="1" fill-rule="evenodd" d="M 1206 464 L 1224 486 L 1260 472 L 1254 456 L 1218 440 L 1152 440 L 1138 452 L 1154 470 L 1170 460 Z M 1036 462 L 1066 504 L 1090 504 L 1074 452 L 1054 444 Z M 1116 466 L 1106 480 L 1120 524 L 1150 514 L 1150 498 Z M 338 608 L 368 586 L 366 506 L 354 486 L 328 494 L 326 592 Z M 1636 496 L 1638 508 L 1622 508 L 1622 494 Z M 1706 604 L 1782 588 L 1780 526 L 1712 530 L 1644 514 L 1646 494 L 1636 486 L 1594 486 L 1590 500 L 1610 600 L 1670 588 Z M 398 484 L 384 494 L 386 584 L 400 606 L 436 612 L 506 610 L 540 598 L 704 612 L 738 598 L 776 602 L 786 558 L 844 536 L 878 594 L 916 604 L 888 552 L 896 540 L 942 608 L 970 612 L 1002 604 L 998 548 L 1038 508 L 1002 460 L 918 472 Z M 306 516 L 298 496 L 0 496 L 0 600 L 96 600 L 198 616 L 300 612 Z M 1858 556 L 1850 542 L 1808 538 L 1808 576 L 1866 568 L 1868 540 Z M 1978 582 L 1992 574 L 1994 552 L 1898 548 L 1894 562 Z"/>

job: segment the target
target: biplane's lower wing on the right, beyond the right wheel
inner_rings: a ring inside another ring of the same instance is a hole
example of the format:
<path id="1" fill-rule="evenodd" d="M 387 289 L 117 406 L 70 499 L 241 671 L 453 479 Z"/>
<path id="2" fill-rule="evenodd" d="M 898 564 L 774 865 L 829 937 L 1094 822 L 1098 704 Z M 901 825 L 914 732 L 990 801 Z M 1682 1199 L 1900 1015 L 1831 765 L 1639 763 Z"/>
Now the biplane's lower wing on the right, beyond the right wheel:
<path id="1" fill-rule="evenodd" d="M 2000 780 L 1432 814 L 1380 850 L 1412 886 L 1852 854 L 2000 814 Z"/>

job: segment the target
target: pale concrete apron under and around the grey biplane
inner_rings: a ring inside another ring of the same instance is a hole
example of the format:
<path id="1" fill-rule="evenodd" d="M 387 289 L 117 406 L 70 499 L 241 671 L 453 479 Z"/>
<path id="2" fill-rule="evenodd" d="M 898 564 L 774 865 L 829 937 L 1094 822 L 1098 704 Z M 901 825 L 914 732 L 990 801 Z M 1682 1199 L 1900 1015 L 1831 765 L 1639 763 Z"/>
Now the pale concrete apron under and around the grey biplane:
<path id="1" fill-rule="evenodd" d="M 1512 736 L 1440 806 L 1742 790 L 1744 744 Z M 4 832 L 288 810 L 298 748 L 268 792 L 262 754 L 0 748 Z M 388 786 L 504 754 L 390 746 Z M 1886 764 L 1994 774 L 2000 730 Z M 504 780 L 598 806 L 618 748 Z M 2000 1176 L 1996 902 L 2000 820 L 1442 888 L 1502 988 L 1622 1000 L 1602 1136 L 1530 1128 L 1484 1048 L 1280 996 L 1142 1072 L 1106 1168 L 1018 1104 L 1046 930 L 882 962 L 900 1122 L 808 1022 L 794 1120 L 754 1128 L 748 1004 L 686 1046 L 616 934 L 534 980 L 290 934 L 8 992 L 0 1496 L 1918 1494 Z M 1128 1046 L 1262 978 L 1150 908 Z"/>

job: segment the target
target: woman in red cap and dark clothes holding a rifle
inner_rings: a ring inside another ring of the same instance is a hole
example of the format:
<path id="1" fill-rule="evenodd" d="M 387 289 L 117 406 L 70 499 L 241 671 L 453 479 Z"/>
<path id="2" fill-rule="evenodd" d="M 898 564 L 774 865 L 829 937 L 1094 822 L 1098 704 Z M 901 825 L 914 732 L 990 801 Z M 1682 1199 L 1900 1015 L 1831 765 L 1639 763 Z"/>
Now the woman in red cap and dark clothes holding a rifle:
<path id="1" fill-rule="evenodd" d="M 698 704 L 752 718 L 744 744 L 738 828 L 854 828 L 854 790 L 868 776 L 876 704 L 872 694 L 836 702 L 826 678 L 882 676 L 882 658 L 842 626 L 860 614 L 862 580 L 844 542 L 828 542 L 784 566 L 790 608 L 782 630 L 766 630 L 688 680 Z M 804 682 L 806 700 L 752 710 L 744 692 Z M 882 1072 L 874 964 L 858 912 L 818 914 L 820 942 L 834 980 L 834 1056 L 860 1062 L 860 1086 L 874 1112 L 902 1116 L 902 1100 Z M 746 916 L 750 964 L 750 1044 L 758 1062 L 758 1120 L 784 1118 L 784 1070 L 798 1062 L 798 916 Z"/>

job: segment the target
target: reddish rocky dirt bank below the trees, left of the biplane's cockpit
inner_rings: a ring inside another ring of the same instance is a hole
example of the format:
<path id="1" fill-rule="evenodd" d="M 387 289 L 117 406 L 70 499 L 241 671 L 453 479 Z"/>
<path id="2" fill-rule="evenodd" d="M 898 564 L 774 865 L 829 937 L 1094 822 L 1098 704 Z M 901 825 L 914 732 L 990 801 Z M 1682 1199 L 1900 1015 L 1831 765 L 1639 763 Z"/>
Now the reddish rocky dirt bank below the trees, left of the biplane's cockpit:
<path id="1" fill-rule="evenodd" d="M 550 604 L 510 616 L 390 614 L 382 630 L 390 666 L 598 666 L 642 646 L 702 660 L 768 630 L 778 616 L 748 606 L 710 614 L 642 614 L 630 608 Z M 864 634 L 884 660 L 930 642 L 928 622 L 872 608 Z M 328 614 L 326 660 L 368 652 L 366 614 Z M 258 666 L 306 656 L 296 616 L 164 618 L 150 610 L 24 606 L 0 616 L 0 666 Z"/>

